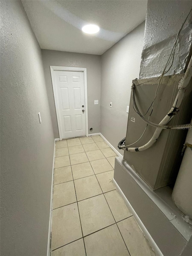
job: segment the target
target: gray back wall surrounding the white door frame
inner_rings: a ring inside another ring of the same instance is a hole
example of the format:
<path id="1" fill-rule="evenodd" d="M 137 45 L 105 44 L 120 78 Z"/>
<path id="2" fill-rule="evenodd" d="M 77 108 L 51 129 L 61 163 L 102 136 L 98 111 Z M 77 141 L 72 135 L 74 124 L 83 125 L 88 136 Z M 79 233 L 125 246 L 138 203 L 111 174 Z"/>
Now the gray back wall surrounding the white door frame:
<path id="1" fill-rule="evenodd" d="M 42 50 L 42 56 L 55 138 L 59 138 L 59 134 L 50 66 L 87 68 L 88 129 L 93 128 L 89 134 L 100 132 L 101 56 L 53 50 Z M 94 100 L 99 100 L 99 105 L 94 105 Z"/>

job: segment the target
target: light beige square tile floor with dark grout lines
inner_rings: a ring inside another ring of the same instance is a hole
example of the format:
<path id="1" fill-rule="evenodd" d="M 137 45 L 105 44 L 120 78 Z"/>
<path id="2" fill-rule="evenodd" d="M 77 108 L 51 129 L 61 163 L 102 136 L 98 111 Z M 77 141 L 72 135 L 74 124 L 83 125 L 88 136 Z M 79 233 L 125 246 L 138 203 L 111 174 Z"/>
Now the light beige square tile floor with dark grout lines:
<path id="1" fill-rule="evenodd" d="M 56 142 L 51 256 L 155 256 L 113 185 L 101 136 Z"/>

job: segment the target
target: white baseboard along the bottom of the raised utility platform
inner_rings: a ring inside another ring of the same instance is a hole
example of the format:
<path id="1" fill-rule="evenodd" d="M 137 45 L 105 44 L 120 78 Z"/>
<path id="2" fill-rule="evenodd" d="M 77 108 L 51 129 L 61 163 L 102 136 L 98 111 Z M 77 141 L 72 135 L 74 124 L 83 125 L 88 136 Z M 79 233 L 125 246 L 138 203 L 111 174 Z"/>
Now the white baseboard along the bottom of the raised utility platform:
<path id="1" fill-rule="evenodd" d="M 119 187 L 119 185 L 117 184 L 117 182 L 115 181 L 114 178 L 113 178 L 112 181 L 113 181 L 113 184 L 115 185 L 116 189 L 119 191 L 119 194 L 123 198 L 123 200 L 124 200 L 125 204 L 127 205 L 128 209 L 130 210 L 130 212 L 132 213 L 133 217 L 135 218 L 135 220 L 136 220 L 138 226 L 140 227 L 141 231 L 143 232 L 144 236 L 148 240 L 148 242 L 151 245 L 152 249 L 155 251 L 155 254 L 157 256 L 164 256 L 162 254 L 162 252 L 160 251 L 159 247 L 157 246 L 157 244 L 155 243 L 155 241 L 153 240 L 152 236 L 147 231 L 146 227 L 143 225 L 143 222 L 140 220 L 139 216 L 137 215 L 137 213 L 134 211 L 133 207 L 131 206 L 131 204 L 127 200 L 127 197 L 123 194 L 121 188 Z"/>

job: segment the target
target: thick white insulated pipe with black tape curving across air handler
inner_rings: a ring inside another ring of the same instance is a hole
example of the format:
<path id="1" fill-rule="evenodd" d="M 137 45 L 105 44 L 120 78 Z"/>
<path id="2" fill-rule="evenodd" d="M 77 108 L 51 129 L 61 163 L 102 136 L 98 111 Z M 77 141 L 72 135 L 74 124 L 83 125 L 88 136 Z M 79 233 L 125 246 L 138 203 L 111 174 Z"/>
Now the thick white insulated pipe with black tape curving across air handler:
<path id="1" fill-rule="evenodd" d="M 161 134 L 161 131 L 163 130 L 164 126 L 166 126 L 166 124 L 173 118 L 173 116 L 179 111 L 179 106 L 183 100 L 183 97 L 184 97 L 184 93 L 185 93 L 185 90 L 186 90 L 186 87 L 190 81 L 192 77 L 192 57 L 190 59 L 190 62 L 189 62 L 189 65 L 187 67 L 187 70 L 184 74 L 184 77 L 183 77 L 183 80 L 182 80 L 182 83 L 181 85 L 179 86 L 179 91 L 177 93 L 177 96 L 176 96 L 176 99 L 173 103 L 173 107 L 170 109 L 170 111 L 167 113 L 167 115 L 164 117 L 164 119 L 159 123 L 158 126 L 162 127 L 162 128 L 157 128 L 155 130 L 155 133 L 153 134 L 152 138 L 143 146 L 140 146 L 140 147 L 136 147 L 136 148 L 122 148 L 123 150 L 126 150 L 126 151 L 131 151 L 131 152 L 138 152 L 138 151 L 143 151 L 143 150 L 146 150 L 148 149 L 149 147 L 151 147 L 155 142 L 156 140 L 158 139 L 159 135 Z M 142 118 L 143 119 L 143 118 Z M 147 120 L 147 119 L 146 119 Z M 148 120 L 147 120 L 148 121 Z M 148 123 L 148 122 L 147 122 Z M 151 122 L 150 122 L 151 123 Z M 149 123 L 149 125 L 151 125 Z M 155 125 L 153 125 L 155 126 Z M 157 126 L 156 126 L 157 127 Z M 186 127 L 192 127 L 192 124 L 187 124 L 187 125 L 173 125 L 173 126 L 170 126 L 170 127 L 179 127 L 179 128 L 186 128 Z M 173 129 L 173 128 L 170 128 L 169 129 Z"/>

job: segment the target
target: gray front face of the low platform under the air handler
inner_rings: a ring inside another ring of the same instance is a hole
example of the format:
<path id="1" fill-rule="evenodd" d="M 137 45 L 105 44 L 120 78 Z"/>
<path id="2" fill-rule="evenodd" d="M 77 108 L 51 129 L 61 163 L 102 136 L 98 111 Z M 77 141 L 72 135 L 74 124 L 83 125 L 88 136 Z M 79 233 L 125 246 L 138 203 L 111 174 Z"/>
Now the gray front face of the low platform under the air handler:
<path id="1" fill-rule="evenodd" d="M 130 168 L 131 169 L 131 168 Z M 115 160 L 114 179 L 164 256 L 179 256 L 187 244 L 183 236 L 158 209 L 146 192 L 119 161 Z"/>

